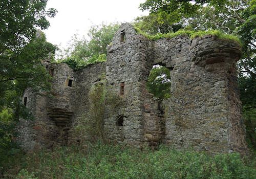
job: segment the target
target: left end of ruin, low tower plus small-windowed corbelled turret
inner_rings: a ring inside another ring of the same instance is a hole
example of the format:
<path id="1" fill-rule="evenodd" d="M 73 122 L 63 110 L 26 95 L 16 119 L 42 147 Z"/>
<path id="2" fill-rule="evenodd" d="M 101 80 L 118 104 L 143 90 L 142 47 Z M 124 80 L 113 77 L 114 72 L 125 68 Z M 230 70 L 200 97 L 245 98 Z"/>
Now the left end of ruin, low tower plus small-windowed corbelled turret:
<path id="1" fill-rule="evenodd" d="M 73 89 L 67 85 L 67 79 L 73 79 L 73 70 L 67 64 L 46 64 L 52 75 L 51 94 L 26 89 L 27 108 L 33 120 L 20 120 L 19 141 L 26 150 L 35 147 L 53 147 L 66 143 L 67 130 L 72 116 L 71 94 Z M 65 139 L 64 139 L 65 138 Z"/>

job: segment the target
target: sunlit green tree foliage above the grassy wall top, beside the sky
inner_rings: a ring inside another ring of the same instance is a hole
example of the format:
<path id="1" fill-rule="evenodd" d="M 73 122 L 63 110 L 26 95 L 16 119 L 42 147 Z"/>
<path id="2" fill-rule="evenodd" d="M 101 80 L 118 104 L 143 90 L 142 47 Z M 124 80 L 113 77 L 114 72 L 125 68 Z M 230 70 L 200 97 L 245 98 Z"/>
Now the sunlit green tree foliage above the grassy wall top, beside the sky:
<path id="1" fill-rule="evenodd" d="M 205 3 L 222 5 L 225 0 L 146 0 L 140 10 L 150 10 L 150 15 L 138 17 L 136 26 L 148 34 L 176 32 L 187 24 L 183 21 L 198 13 Z"/>

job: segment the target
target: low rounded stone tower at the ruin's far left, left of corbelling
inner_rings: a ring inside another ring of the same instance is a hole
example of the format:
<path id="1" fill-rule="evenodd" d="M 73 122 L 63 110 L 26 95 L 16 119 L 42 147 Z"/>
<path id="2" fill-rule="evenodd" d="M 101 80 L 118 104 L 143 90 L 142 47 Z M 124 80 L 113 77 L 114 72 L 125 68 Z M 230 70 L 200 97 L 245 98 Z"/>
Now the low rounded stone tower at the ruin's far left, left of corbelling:
<path id="1" fill-rule="evenodd" d="M 40 92 L 34 92 L 33 89 L 26 89 L 22 102 L 27 98 L 27 108 L 32 114 L 32 119 L 20 119 L 17 126 L 19 132 L 18 143 L 25 150 L 34 148 L 51 147 L 56 141 L 57 127 L 47 116 L 47 96 Z"/>

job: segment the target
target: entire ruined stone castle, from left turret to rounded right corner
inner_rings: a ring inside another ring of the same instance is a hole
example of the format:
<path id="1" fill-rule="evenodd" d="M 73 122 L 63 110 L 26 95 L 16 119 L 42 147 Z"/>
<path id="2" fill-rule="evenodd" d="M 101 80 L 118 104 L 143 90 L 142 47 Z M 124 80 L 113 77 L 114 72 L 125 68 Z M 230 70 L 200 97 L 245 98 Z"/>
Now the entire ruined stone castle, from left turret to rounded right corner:
<path id="1" fill-rule="evenodd" d="M 65 63 L 44 61 L 53 76 L 52 97 L 27 89 L 23 102 L 35 120 L 20 121 L 24 148 L 51 146 L 89 109 L 89 91 L 105 74 L 106 87 L 122 98 L 116 113 L 105 112 L 111 141 L 132 145 L 194 148 L 211 152 L 243 151 L 245 131 L 236 62 L 237 42 L 206 35 L 179 35 L 151 41 L 122 24 L 106 62 L 74 71 Z M 170 70 L 171 97 L 157 99 L 146 90 L 153 65 Z"/>

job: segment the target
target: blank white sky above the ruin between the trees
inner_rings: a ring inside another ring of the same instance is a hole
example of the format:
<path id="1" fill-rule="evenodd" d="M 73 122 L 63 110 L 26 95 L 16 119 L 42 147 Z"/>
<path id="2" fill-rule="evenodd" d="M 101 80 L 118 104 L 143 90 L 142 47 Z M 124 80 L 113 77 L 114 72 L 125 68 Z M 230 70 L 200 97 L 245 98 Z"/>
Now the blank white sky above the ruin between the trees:
<path id="1" fill-rule="evenodd" d="M 121 23 L 146 15 L 139 10 L 145 0 L 49 0 L 48 8 L 57 9 L 49 18 L 50 27 L 44 30 L 47 40 L 59 47 L 66 47 L 74 34 L 86 35 L 92 25 Z"/>

